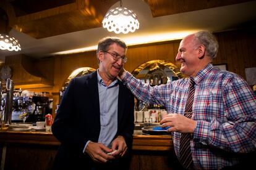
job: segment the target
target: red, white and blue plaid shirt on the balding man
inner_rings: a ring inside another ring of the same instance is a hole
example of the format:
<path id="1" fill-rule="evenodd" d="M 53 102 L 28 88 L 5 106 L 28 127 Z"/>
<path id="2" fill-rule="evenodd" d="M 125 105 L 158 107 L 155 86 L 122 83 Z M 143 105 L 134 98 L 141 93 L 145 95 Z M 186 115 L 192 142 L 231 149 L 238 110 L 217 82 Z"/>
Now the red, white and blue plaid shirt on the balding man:
<path id="1" fill-rule="evenodd" d="M 241 162 L 239 153 L 255 151 L 256 97 L 240 76 L 213 65 L 200 70 L 195 80 L 192 119 L 197 121 L 190 146 L 194 168 L 220 169 Z M 168 113 L 184 115 L 189 78 L 151 87 L 126 73 L 124 84 L 139 99 L 164 105 Z M 181 133 L 173 132 L 179 158 Z"/>

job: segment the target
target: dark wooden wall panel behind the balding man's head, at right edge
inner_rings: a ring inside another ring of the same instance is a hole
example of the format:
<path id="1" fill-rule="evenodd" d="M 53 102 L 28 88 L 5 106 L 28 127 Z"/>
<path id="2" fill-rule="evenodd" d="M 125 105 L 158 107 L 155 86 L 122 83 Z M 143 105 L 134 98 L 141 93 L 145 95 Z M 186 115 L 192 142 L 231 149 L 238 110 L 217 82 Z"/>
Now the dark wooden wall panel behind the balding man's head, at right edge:
<path id="1" fill-rule="evenodd" d="M 228 65 L 228 70 L 245 80 L 245 68 L 256 67 L 256 33 L 254 30 L 236 30 L 216 33 L 220 48 L 214 64 Z"/>

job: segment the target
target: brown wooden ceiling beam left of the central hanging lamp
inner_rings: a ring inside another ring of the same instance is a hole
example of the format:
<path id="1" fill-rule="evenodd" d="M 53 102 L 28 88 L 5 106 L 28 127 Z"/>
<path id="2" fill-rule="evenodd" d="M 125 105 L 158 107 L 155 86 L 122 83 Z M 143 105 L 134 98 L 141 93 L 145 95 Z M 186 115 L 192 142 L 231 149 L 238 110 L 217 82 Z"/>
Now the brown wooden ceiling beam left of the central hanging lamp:
<path id="1" fill-rule="evenodd" d="M 119 0 L 76 0 L 63 6 L 16 17 L 12 28 L 36 39 L 97 28 L 101 26 L 108 9 L 117 1 Z"/>

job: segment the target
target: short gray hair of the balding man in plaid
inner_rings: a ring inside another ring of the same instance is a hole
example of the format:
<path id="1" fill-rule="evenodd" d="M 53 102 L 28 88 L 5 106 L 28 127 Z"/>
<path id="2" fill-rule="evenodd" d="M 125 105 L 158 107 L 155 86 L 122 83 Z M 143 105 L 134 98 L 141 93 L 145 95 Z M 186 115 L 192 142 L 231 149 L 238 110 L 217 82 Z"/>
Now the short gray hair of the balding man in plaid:
<path id="1" fill-rule="evenodd" d="M 195 33 L 195 45 L 199 46 L 203 44 L 205 46 L 205 51 L 207 55 L 212 59 L 214 59 L 218 53 L 218 41 L 215 36 L 211 34 L 209 31 L 198 31 Z"/>

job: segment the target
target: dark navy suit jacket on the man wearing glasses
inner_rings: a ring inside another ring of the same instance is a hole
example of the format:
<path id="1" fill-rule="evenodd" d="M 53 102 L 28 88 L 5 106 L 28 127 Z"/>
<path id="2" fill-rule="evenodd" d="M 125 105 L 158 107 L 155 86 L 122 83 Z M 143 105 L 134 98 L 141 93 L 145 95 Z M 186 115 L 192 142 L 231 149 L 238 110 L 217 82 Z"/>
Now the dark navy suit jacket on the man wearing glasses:
<path id="1" fill-rule="evenodd" d="M 134 95 L 118 80 L 117 133 L 132 145 L 134 132 Z M 53 135 L 61 142 L 55 158 L 57 167 L 90 164 L 92 159 L 83 148 L 88 140 L 98 142 L 100 135 L 100 102 L 96 71 L 70 81 L 62 97 L 52 126 Z M 88 166 L 87 166 L 88 168 Z"/>

